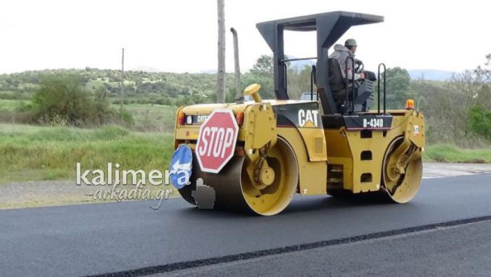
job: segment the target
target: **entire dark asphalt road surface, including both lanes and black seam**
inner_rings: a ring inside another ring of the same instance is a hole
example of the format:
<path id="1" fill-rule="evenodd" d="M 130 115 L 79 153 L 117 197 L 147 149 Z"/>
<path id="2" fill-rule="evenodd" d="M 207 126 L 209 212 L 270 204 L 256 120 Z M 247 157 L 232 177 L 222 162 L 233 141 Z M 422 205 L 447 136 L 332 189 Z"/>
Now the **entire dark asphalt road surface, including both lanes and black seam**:
<path id="1" fill-rule="evenodd" d="M 299 196 L 274 217 L 197 210 L 179 198 L 153 204 L 0 210 L 0 275 L 491 271 L 489 174 L 423 180 L 404 205 Z"/>

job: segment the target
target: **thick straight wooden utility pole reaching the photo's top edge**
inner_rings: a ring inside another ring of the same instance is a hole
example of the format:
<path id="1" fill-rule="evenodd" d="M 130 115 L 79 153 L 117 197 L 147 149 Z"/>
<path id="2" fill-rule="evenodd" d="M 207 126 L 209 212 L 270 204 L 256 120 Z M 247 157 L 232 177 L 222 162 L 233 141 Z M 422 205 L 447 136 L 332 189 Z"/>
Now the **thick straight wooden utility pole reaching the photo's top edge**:
<path id="1" fill-rule="evenodd" d="M 225 102 L 225 4 L 217 0 L 218 8 L 218 70 L 217 70 L 217 102 Z"/>

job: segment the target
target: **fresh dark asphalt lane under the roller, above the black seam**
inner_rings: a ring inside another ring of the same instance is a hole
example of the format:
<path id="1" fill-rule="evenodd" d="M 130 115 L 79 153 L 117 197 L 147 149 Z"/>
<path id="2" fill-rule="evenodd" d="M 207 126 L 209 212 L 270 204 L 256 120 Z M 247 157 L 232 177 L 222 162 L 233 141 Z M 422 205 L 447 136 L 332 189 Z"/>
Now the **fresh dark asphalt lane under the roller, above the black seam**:
<path id="1" fill-rule="evenodd" d="M 487 217 L 491 175 L 424 180 L 418 196 L 404 205 L 297 197 L 274 217 L 197 210 L 182 199 L 164 201 L 159 210 L 149 208 L 152 204 L 1 210 L 0 276 L 138 273 L 168 264 Z"/>

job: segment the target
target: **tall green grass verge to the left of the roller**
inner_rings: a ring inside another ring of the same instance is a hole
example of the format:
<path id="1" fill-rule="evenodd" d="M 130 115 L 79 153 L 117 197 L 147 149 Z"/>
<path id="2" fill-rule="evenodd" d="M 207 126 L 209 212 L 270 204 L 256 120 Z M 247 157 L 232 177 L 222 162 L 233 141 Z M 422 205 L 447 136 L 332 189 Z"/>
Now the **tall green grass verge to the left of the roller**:
<path id="1" fill-rule="evenodd" d="M 75 166 L 121 169 L 168 167 L 173 135 L 137 133 L 119 126 L 97 129 L 0 123 L 0 184 L 26 180 L 74 180 Z"/>

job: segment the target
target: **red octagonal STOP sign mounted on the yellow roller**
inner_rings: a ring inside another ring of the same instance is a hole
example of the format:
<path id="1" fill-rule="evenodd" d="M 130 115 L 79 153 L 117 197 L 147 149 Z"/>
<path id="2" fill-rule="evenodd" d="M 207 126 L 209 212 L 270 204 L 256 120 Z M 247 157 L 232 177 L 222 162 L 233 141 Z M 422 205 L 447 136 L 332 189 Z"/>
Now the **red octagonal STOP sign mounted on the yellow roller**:
<path id="1" fill-rule="evenodd" d="M 215 109 L 199 128 L 196 158 L 203 172 L 219 173 L 234 156 L 238 126 L 231 109 Z"/>

